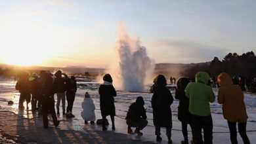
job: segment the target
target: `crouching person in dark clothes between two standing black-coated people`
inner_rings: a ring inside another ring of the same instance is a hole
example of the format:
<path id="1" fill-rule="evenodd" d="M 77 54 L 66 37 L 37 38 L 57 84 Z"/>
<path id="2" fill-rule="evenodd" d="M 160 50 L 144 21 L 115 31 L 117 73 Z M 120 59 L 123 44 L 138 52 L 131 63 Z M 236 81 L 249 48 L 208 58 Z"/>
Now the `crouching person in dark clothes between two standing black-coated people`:
<path id="1" fill-rule="evenodd" d="M 148 125 L 148 120 L 146 120 L 146 110 L 144 109 L 144 99 L 139 96 L 135 103 L 132 103 L 126 115 L 126 124 L 128 125 L 128 134 L 133 133 L 131 127 L 135 127 L 135 133 L 142 135 L 143 128 Z"/>

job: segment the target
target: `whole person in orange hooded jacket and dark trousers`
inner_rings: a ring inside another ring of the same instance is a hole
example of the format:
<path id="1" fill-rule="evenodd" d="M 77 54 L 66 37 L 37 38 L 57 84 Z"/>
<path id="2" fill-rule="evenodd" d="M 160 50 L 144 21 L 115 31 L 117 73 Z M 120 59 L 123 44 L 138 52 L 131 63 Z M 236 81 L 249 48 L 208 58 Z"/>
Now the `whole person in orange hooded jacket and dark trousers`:
<path id="1" fill-rule="evenodd" d="M 244 143 L 249 144 L 246 134 L 247 113 L 244 104 L 244 93 L 240 86 L 233 84 L 230 75 L 221 73 L 218 78 L 221 88 L 218 92 L 218 103 L 223 104 L 223 116 L 228 121 L 230 131 L 230 141 L 237 144 L 236 123 L 238 122 L 238 132 Z"/>

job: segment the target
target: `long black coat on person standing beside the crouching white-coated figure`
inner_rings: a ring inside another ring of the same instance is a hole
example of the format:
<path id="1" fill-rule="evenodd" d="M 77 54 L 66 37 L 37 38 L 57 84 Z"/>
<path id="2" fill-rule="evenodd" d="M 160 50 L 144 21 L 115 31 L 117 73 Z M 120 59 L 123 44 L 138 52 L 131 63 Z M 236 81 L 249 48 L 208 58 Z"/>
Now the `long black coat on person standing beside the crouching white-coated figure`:
<path id="1" fill-rule="evenodd" d="M 116 97 L 116 90 L 114 86 L 101 84 L 98 93 L 100 94 L 100 112 L 102 117 L 108 115 L 115 116 L 114 97 Z"/>

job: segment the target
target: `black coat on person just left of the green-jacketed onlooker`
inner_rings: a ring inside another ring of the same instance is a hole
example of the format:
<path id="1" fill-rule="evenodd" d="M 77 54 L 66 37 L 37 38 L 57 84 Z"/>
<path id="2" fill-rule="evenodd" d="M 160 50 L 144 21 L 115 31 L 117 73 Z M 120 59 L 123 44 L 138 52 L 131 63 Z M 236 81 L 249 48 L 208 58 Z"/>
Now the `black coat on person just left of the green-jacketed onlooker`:
<path id="1" fill-rule="evenodd" d="M 189 83 L 189 79 L 186 77 L 181 77 L 177 81 L 177 89 L 175 91 L 175 99 L 179 99 L 178 107 L 178 119 L 181 122 L 190 123 L 190 113 L 188 111 L 189 99 L 186 97 L 184 89 Z"/>

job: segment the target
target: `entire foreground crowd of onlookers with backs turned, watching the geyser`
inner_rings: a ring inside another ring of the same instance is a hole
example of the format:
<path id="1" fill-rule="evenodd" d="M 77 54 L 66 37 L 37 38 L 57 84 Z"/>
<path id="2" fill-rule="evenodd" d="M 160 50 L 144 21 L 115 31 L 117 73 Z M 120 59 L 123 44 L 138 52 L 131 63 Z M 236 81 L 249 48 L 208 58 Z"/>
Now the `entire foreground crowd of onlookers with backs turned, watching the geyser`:
<path id="1" fill-rule="evenodd" d="M 64 77 L 62 77 L 64 75 Z M 182 134 L 184 140 L 182 144 L 188 143 L 187 126 L 190 125 L 192 130 L 191 143 L 213 143 L 213 119 L 209 103 L 215 101 L 215 94 L 211 86 L 209 86 L 210 77 L 207 73 L 200 71 L 196 74 L 196 82 L 190 82 L 187 77 L 180 77 L 177 80 L 175 98 L 179 99 L 178 119 L 181 121 Z M 35 82 L 35 81 L 38 81 Z M 100 112 L 102 116 L 102 130 L 107 130 L 106 117 L 110 116 L 112 120 L 112 130 L 115 130 L 116 109 L 114 105 L 114 97 L 117 92 L 112 84 L 113 80 L 110 74 L 103 77 L 103 84 L 100 84 L 98 93 L 100 95 Z M 161 127 L 166 129 L 167 141 L 172 143 L 171 128 L 172 113 L 171 104 L 173 96 L 167 88 L 167 81 L 163 75 L 158 75 L 154 79 L 154 84 L 150 88 L 153 93 L 151 105 L 153 109 L 153 122 L 155 126 L 156 141 L 161 141 Z M 230 141 L 232 144 L 238 143 L 236 137 L 236 123 L 238 123 L 238 132 L 241 135 L 244 143 L 248 144 L 249 139 L 246 135 L 247 113 L 244 103 L 244 94 L 240 86 L 233 84 L 232 78 L 227 73 L 221 73 L 217 82 L 220 85 L 218 92 L 218 103 L 223 105 L 223 116 L 227 120 L 230 130 Z M 36 83 L 36 84 L 35 84 Z M 30 85 L 30 86 L 28 86 Z M 31 90 L 36 88 L 36 90 Z M 60 100 L 62 100 L 62 113 L 65 115 L 65 92 L 68 100 L 67 117 L 72 115 L 72 105 L 74 103 L 76 82 L 75 77 L 68 76 L 61 71 L 57 71 L 54 75 L 41 71 L 40 77 L 33 74 L 29 77 L 28 73 L 23 73 L 16 84 L 16 89 L 20 91 L 19 107 L 23 107 L 23 102 L 30 102 L 30 94 L 32 94 L 32 110 L 42 107 L 43 122 L 45 128 L 48 127 L 47 115 L 51 113 L 54 125 L 60 123 L 56 118 L 54 110 L 54 94 L 57 95 L 57 114 L 60 114 Z M 39 101 L 39 103 L 37 103 Z M 37 103 L 37 106 L 36 106 Z M 41 105 L 41 106 L 40 106 Z M 83 111 L 81 117 L 94 124 L 95 104 L 90 95 L 86 92 L 85 99 L 82 102 Z M 125 117 L 127 123 L 127 133 L 133 133 L 132 128 L 135 128 L 135 134 L 142 135 L 140 132 L 148 124 L 146 110 L 144 109 L 144 99 L 139 96 L 134 103 L 131 103 Z M 203 135 L 202 135 L 203 130 Z"/>

